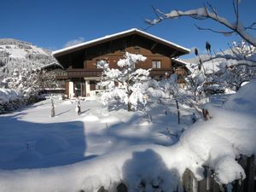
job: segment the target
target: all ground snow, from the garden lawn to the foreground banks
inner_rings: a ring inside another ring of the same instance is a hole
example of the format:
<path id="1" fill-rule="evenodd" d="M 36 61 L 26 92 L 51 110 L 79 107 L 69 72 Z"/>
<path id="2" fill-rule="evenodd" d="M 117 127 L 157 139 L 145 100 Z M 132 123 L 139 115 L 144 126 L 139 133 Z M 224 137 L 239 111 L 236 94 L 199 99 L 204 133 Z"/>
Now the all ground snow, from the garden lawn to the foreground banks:
<path id="1" fill-rule="evenodd" d="M 168 101 L 149 102 L 147 115 L 84 101 L 79 116 L 75 102 L 58 100 L 54 118 L 49 100 L 0 115 L 0 191 L 111 191 L 124 181 L 130 191 L 156 191 L 154 185 L 172 192 L 186 168 L 200 179 L 202 166 L 230 183 L 245 177 L 235 158 L 255 153 L 255 96 L 253 81 L 223 107 L 215 99 L 207 106 L 212 119 L 194 125 L 184 106 L 177 125 Z"/>

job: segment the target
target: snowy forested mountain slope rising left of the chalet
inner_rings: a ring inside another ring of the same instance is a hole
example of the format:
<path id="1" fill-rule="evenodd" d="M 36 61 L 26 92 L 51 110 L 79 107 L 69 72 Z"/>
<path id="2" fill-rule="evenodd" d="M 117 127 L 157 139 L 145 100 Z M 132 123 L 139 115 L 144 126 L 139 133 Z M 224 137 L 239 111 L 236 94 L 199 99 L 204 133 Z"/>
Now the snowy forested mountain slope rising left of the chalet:
<path id="1" fill-rule="evenodd" d="M 15 69 L 28 70 L 56 62 L 51 51 L 12 39 L 0 38 L 0 79 L 12 75 Z"/>

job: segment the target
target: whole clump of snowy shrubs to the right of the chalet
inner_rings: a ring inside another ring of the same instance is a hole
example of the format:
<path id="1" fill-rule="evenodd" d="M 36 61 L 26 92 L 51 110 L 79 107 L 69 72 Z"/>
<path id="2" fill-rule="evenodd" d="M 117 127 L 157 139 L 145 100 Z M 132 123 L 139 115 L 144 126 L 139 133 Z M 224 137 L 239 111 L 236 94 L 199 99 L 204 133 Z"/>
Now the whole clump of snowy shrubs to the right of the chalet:
<path id="1" fill-rule="evenodd" d="M 191 66 L 193 72 L 187 78 L 195 95 L 236 91 L 244 81 L 256 78 L 256 49 L 244 41 L 234 42 L 230 49 L 220 54 L 204 59 L 198 55 L 198 58 L 199 62 Z"/>

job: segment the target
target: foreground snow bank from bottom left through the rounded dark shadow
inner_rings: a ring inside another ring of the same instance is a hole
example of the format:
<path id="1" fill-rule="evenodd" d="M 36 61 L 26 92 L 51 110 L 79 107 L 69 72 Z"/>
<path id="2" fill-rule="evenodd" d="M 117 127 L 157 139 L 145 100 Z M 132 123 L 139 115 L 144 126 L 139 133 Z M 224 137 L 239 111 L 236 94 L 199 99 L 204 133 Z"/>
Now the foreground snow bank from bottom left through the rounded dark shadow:
<path id="1" fill-rule="evenodd" d="M 137 189 L 143 181 L 148 189 L 150 183 L 154 182 L 160 184 L 165 191 L 172 192 L 176 189 L 176 173 L 167 171 L 166 164 L 156 151 L 168 153 L 167 148 L 160 146 L 140 146 L 71 166 L 2 171 L 0 191 L 96 191 L 101 186 L 113 191 L 124 180 L 129 183 L 131 191 Z"/>

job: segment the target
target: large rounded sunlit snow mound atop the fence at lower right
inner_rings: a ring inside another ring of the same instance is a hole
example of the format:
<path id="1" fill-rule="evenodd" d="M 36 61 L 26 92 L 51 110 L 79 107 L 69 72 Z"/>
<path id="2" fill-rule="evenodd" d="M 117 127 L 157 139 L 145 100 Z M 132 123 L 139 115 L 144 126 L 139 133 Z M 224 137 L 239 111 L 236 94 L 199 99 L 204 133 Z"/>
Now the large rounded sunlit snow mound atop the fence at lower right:
<path id="1" fill-rule="evenodd" d="M 196 123 L 185 131 L 180 143 L 194 162 L 210 166 L 215 171 L 219 183 L 230 183 L 241 176 L 245 178 L 236 158 L 240 154 L 250 156 L 256 152 L 254 116 L 218 108 L 209 110 L 213 118 L 209 122 Z M 195 177 L 201 175 L 195 174 Z"/>

